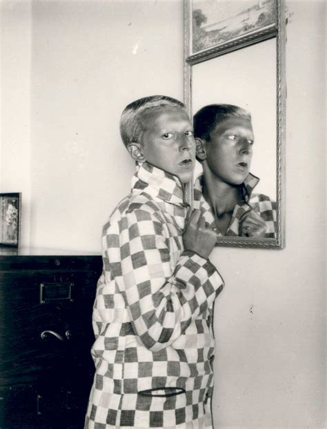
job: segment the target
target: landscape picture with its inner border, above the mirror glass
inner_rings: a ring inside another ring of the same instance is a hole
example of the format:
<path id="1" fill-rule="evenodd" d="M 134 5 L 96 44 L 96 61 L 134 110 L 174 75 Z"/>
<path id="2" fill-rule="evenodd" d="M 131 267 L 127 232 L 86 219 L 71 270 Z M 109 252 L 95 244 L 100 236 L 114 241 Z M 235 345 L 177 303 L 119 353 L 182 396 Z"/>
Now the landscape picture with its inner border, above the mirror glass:
<path id="1" fill-rule="evenodd" d="M 184 0 L 188 61 L 224 54 L 277 32 L 277 0 Z"/>

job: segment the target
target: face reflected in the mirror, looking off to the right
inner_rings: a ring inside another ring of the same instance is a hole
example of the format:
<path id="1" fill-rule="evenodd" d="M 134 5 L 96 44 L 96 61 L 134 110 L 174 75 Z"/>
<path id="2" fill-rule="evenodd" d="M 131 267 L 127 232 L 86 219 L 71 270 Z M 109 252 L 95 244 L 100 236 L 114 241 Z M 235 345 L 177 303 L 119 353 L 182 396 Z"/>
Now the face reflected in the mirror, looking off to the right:
<path id="1" fill-rule="evenodd" d="M 208 167 L 221 181 L 232 186 L 244 182 L 252 161 L 254 143 L 252 123 L 247 118 L 231 117 L 217 124 L 206 141 Z"/>

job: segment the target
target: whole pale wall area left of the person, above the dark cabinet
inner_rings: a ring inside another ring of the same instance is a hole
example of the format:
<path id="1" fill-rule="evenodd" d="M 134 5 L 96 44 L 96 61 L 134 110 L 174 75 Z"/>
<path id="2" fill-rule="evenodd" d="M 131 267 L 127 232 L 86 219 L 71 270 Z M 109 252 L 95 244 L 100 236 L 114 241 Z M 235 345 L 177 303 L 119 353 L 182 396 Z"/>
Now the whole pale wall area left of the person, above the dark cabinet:
<path id="1" fill-rule="evenodd" d="M 135 171 L 119 136 L 121 111 L 148 94 L 183 97 L 181 3 L 1 6 L 1 99 L 10 111 L 0 192 L 23 192 L 23 246 L 99 252 L 101 226 Z"/>

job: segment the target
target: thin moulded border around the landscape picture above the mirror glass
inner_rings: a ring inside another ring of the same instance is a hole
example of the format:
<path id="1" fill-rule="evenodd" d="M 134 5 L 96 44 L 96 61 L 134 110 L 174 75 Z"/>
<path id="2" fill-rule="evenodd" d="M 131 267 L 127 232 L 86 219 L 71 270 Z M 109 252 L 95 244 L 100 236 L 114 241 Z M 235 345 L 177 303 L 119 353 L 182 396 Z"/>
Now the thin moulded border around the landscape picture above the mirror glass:
<path id="1" fill-rule="evenodd" d="M 245 46 L 252 45 L 259 41 L 264 41 L 277 35 L 278 27 L 278 0 L 275 0 L 275 22 L 259 28 L 258 30 L 253 30 L 243 36 L 235 37 L 230 39 L 230 41 L 219 43 L 216 46 L 206 48 L 204 50 L 199 50 L 197 52 L 192 52 L 192 1 L 193 0 L 184 0 L 184 28 L 186 28 L 186 33 L 188 37 L 188 52 L 186 55 L 186 61 L 190 64 L 196 64 L 205 59 L 210 59 L 217 57 L 218 55 L 224 55 L 233 50 L 244 48 Z"/>

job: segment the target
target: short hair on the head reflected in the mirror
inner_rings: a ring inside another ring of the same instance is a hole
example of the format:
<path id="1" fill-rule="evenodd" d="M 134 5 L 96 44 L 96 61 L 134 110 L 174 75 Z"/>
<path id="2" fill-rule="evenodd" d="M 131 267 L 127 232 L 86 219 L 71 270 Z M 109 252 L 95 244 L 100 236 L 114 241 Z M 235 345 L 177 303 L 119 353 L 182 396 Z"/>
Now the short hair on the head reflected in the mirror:
<path id="1" fill-rule="evenodd" d="M 232 104 L 210 104 L 201 108 L 193 117 L 194 137 L 210 141 L 210 133 L 218 123 L 230 117 L 244 117 L 251 121 L 248 110 Z"/>

